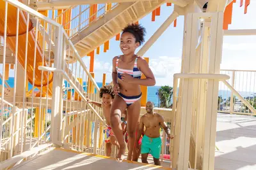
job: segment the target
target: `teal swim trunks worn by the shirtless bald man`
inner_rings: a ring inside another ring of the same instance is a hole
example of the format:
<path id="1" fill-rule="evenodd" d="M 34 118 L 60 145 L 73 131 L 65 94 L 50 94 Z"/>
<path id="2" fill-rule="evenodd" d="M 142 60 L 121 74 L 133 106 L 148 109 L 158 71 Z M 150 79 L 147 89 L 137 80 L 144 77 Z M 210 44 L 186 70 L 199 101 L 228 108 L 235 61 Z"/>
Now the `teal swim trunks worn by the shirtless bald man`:
<path id="1" fill-rule="evenodd" d="M 141 154 L 150 153 L 154 158 L 159 159 L 162 148 L 162 140 L 158 138 L 148 138 L 144 135 L 141 141 Z"/>

